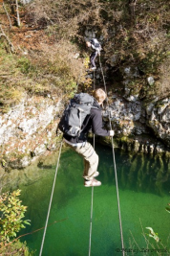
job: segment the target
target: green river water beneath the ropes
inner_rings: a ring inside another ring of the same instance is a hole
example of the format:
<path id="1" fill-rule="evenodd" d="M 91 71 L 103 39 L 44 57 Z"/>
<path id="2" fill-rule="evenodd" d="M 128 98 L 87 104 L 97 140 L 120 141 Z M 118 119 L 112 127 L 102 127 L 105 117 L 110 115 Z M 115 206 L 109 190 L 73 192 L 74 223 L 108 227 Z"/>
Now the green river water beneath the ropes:
<path id="1" fill-rule="evenodd" d="M 98 180 L 102 186 L 94 189 L 91 255 L 122 255 L 118 252 L 121 240 L 112 149 L 97 146 L 96 151 Z M 170 214 L 165 211 L 170 202 L 168 161 L 116 151 L 116 162 L 126 255 L 158 255 L 151 250 L 151 245 L 149 253 L 143 252 L 147 248 L 143 234 L 149 233 L 145 227 L 152 227 L 159 233 L 164 247 L 170 248 Z M 52 165 L 52 168 L 37 168 L 34 174 L 39 172 L 40 178 L 20 186 L 23 204 L 28 205 L 26 218 L 32 221 L 23 234 L 45 225 L 55 172 L 54 162 Z M 82 170 L 81 157 L 74 151 L 63 151 L 42 255 L 85 256 L 89 253 L 92 189 L 83 186 Z M 39 254 L 43 232 L 41 229 L 23 238 L 35 251 L 34 255 Z M 155 248 L 162 248 L 153 238 L 145 236 Z"/>

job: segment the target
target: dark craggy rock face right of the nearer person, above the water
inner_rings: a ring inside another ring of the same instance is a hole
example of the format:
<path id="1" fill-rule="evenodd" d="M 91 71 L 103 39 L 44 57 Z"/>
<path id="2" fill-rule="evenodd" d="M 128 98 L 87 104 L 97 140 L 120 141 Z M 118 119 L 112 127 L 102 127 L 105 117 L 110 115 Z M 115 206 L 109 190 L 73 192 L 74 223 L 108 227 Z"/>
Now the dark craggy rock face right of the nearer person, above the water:
<path id="1" fill-rule="evenodd" d="M 112 94 L 112 99 L 113 103 L 103 116 L 107 124 L 110 116 L 112 128 L 116 131 L 116 147 L 126 151 L 166 152 L 169 155 L 170 99 L 155 99 L 147 105 L 140 100 L 128 101 L 117 93 Z M 107 139 L 105 142 L 109 143 Z"/>

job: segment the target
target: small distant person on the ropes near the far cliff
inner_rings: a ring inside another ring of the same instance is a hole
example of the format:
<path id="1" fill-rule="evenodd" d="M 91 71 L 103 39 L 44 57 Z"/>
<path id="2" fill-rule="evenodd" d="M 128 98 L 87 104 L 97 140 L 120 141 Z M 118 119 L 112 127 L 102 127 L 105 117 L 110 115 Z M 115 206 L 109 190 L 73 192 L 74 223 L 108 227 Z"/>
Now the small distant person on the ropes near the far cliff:
<path id="1" fill-rule="evenodd" d="M 93 38 L 90 41 L 86 41 L 86 46 L 89 48 L 91 47 L 93 50 L 93 53 L 90 56 L 90 61 L 92 64 L 91 70 L 96 70 L 96 57 L 100 56 L 101 45 L 96 38 Z"/>

